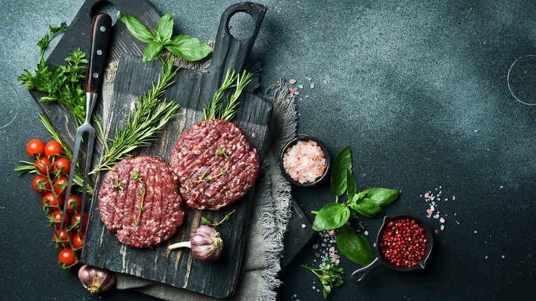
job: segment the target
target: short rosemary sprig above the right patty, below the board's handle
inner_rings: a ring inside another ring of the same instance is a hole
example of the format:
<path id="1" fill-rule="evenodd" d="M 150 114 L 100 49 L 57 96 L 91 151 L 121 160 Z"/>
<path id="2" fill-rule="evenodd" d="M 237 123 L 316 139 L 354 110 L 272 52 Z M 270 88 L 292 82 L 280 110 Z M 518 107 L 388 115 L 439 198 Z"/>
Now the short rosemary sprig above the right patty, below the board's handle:
<path id="1" fill-rule="evenodd" d="M 243 89 L 251 82 L 252 80 L 252 74 L 247 73 L 246 70 L 243 71 L 242 76 L 240 74 L 234 74 L 234 71 L 231 69 L 227 69 L 227 73 L 225 74 L 225 78 L 223 79 L 223 84 L 221 87 L 214 93 L 214 97 L 212 98 L 212 102 L 208 106 L 203 107 L 203 117 L 202 120 L 208 120 L 208 119 L 223 119 L 230 121 L 232 118 L 234 118 L 234 115 L 236 115 L 236 106 L 240 103 L 237 102 L 238 98 L 240 97 Z M 231 95 L 230 98 L 227 98 L 227 102 L 225 104 L 225 108 L 223 108 L 223 104 L 220 102 L 221 98 L 223 97 L 223 93 L 227 91 L 227 89 L 231 89 L 233 87 L 236 87 L 236 90 Z"/>

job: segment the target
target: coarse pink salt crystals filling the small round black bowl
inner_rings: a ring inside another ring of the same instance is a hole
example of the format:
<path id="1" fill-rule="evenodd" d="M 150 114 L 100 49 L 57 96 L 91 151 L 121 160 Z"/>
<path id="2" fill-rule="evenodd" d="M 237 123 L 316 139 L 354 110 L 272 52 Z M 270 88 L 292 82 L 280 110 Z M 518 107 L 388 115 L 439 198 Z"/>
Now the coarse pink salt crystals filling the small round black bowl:
<path id="1" fill-rule="evenodd" d="M 283 168 L 294 181 L 314 182 L 324 175 L 326 158 L 316 142 L 300 140 L 287 148 L 283 155 Z"/>

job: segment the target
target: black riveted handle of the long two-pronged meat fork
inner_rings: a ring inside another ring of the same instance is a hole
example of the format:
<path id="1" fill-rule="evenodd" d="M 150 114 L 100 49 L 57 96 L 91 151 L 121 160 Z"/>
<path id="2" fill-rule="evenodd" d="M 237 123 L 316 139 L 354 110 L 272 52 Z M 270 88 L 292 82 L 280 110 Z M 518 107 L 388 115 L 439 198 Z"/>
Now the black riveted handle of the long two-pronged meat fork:
<path id="1" fill-rule="evenodd" d="M 100 91 L 112 32 L 111 23 L 111 16 L 108 14 L 101 13 L 93 17 L 86 92 L 98 93 Z"/>

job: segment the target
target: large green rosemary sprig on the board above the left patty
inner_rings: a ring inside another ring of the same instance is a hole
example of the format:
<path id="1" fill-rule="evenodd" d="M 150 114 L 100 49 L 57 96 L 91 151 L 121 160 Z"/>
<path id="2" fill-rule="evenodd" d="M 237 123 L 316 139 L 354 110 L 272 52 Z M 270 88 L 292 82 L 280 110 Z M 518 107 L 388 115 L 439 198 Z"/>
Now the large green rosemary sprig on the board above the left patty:
<path id="1" fill-rule="evenodd" d="M 110 170 L 113 166 L 126 157 L 131 157 L 132 151 L 142 146 L 150 146 L 157 139 L 156 135 L 167 122 L 179 113 L 181 105 L 173 101 L 161 100 L 161 96 L 170 85 L 172 78 L 178 69 L 173 70 L 173 57 L 167 63 L 160 61 L 162 74 L 158 76 L 157 83 L 143 96 L 138 96 L 138 103 L 134 111 L 129 115 L 124 129 L 115 127 L 115 139 L 111 140 L 111 146 L 104 143 L 104 155 L 100 158 L 97 166 L 90 172 Z M 161 104 L 158 107 L 158 104 Z"/>

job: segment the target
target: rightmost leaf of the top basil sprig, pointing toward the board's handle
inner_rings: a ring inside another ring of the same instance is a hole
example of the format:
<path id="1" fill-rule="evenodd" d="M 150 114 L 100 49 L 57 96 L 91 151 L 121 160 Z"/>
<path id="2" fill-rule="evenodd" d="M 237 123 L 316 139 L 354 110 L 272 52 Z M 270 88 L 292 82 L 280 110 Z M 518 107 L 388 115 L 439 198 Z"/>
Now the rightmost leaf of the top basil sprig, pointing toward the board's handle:
<path id="1" fill-rule="evenodd" d="M 185 60 L 201 60 L 212 52 L 212 47 L 191 36 L 174 36 L 164 47 Z"/>

